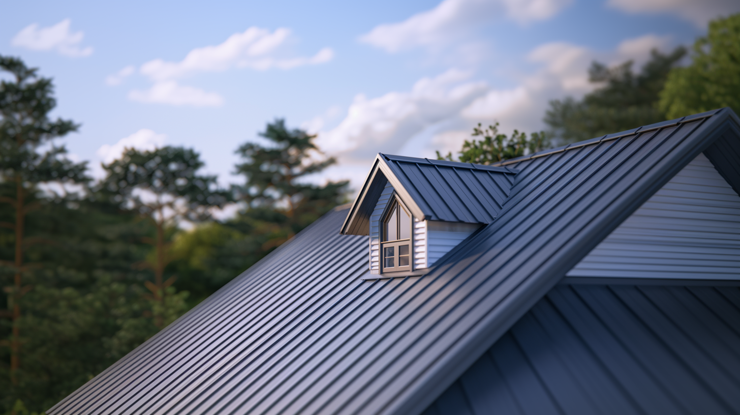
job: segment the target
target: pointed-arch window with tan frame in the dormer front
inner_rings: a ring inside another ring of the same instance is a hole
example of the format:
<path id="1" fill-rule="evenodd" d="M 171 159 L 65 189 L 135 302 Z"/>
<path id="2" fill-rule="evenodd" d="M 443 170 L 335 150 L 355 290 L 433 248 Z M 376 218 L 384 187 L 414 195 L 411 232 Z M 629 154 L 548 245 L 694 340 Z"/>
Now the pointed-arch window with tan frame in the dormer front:
<path id="1" fill-rule="evenodd" d="M 380 263 L 383 272 L 411 270 L 411 215 L 397 200 L 383 219 Z"/>

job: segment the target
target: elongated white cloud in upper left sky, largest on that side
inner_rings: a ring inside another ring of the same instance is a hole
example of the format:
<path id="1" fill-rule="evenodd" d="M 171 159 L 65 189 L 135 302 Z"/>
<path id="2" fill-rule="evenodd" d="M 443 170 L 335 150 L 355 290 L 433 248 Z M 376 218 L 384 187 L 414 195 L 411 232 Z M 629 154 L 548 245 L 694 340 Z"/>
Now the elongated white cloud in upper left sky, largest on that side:
<path id="1" fill-rule="evenodd" d="M 191 50 L 180 62 L 154 59 L 141 65 L 141 73 L 154 81 L 179 79 L 195 73 L 223 72 L 232 68 L 268 70 L 273 67 L 290 69 L 308 64 L 322 64 L 334 57 L 329 47 L 324 47 L 312 57 L 290 57 L 284 50 L 290 30 L 281 27 L 270 33 L 260 27 L 249 27 L 235 33 L 215 46 Z"/>

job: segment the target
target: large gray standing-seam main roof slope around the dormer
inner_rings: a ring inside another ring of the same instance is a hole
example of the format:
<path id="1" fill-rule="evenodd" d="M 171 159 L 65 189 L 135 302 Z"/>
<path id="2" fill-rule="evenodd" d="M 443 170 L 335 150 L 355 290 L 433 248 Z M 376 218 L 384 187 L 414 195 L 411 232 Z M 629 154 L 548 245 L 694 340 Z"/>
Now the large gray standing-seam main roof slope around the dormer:
<path id="1" fill-rule="evenodd" d="M 723 109 L 518 162 L 496 219 L 421 277 L 363 280 L 337 209 L 48 414 L 420 414 L 738 125 Z"/>

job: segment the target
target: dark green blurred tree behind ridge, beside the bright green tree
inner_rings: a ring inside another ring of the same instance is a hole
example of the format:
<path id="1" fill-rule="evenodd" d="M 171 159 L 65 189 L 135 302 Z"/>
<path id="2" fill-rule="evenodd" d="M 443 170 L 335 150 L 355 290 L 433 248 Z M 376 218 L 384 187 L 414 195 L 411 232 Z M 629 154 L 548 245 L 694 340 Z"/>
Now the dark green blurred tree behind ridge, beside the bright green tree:
<path id="1" fill-rule="evenodd" d="M 633 72 L 632 61 L 616 67 L 593 62 L 589 81 L 599 87 L 582 100 L 551 101 L 544 119 L 548 134 L 562 145 L 665 120 L 659 93 L 671 68 L 685 55 L 684 47 L 667 55 L 652 50 L 639 73 Z"/>

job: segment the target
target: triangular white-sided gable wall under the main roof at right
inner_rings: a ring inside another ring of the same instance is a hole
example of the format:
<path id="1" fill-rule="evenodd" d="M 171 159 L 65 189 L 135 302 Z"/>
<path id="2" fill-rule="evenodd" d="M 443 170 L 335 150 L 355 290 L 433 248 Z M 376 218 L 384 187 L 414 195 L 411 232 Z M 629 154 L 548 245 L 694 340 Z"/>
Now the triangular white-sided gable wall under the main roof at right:
<path id="1" fill-rule="evenodd" d="M 700 154 L 567 275 L 740 279 L 740 196 Z"/>

